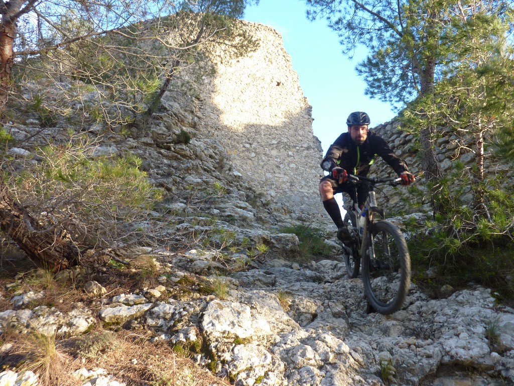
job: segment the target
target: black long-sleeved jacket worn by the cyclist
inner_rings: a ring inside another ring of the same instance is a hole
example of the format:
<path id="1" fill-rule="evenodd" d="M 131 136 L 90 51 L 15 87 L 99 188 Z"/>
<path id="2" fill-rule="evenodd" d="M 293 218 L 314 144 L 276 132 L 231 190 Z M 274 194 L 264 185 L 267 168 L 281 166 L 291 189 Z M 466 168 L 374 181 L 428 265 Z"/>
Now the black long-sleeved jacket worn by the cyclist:
<path id="1" fill-rule="evenodd" d="M 368 137 L 362 145 L 357 145 L 350 133 L 342 133 L 328 148 L 321 161 L 321 167 L 323 168 L 325 161 L 329 161 L 330 167 L 323 168 L 326 171 L 331 171 L 335 166 L 340 166 L 350 174 L 367 176 L 377 155 L 381 156 L 397 174 L 409 171 L 407 163 L 391 150 L 380 135 L 371 130 L 368 131 Z"/>

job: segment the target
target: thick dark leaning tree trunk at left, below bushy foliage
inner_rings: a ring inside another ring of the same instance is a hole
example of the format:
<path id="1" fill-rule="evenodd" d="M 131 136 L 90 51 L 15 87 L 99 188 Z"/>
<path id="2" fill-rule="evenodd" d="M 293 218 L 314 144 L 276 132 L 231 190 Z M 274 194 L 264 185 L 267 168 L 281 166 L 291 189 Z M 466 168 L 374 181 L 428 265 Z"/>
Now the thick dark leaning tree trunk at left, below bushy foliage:
<path id="1" fill-rule="evenodd" d="M 45 229 L 22 205 L 9 196 L 0 180 L 0 230 L 40 267 L 52 270 L 79 264 L 79 250 L 58 229 Z"/>

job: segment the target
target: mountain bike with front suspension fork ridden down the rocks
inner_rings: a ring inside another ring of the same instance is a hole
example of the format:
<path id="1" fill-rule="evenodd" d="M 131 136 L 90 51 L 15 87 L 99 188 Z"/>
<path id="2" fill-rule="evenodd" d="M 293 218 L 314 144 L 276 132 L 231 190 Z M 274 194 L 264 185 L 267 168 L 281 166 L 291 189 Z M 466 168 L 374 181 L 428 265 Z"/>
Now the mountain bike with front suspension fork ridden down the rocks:
<path id="1" fill-rule="evenodd" d="M 400 309 L 411 279 L 411 260 L 407 242 L 400 230 L 377 207 L 375 186 L 396 186 L 401 179 L 368 178 L 348 175 L 348 182 L 369 185 L 364 208 L 357 203 L 348 207 L 344 226 L 350 231 L 350 245 L 343 245 L 348 276 L 359 275 L 362 262 L 364 292 L 371 306 L 378 312 L 390 314 Z"/>

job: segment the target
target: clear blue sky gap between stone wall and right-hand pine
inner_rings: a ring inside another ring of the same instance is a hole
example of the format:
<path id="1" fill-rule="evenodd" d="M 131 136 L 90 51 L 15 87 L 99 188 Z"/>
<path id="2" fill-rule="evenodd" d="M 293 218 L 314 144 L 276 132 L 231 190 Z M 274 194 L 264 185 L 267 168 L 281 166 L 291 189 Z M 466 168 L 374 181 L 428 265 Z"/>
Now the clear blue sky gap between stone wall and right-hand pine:
<path id="1" fill-rule="evenodd" d="M 355 73 L 355 65 L 365 51 L 348 60 L 341 54 L 337 33 L 325 20 L 308 21 L 306 9 L 301 0 L 260 0 L 258 6 L 246 9 L 244 19 L 269 25 L 282 34 L 303 93 L 313 107 L 314 134 L 325 152 L 347 130 L 346 117 L 352 111 L 367 112 L 372 127 L 396 114 L 389 104 L 364 95 L 365 83 Z"/>

